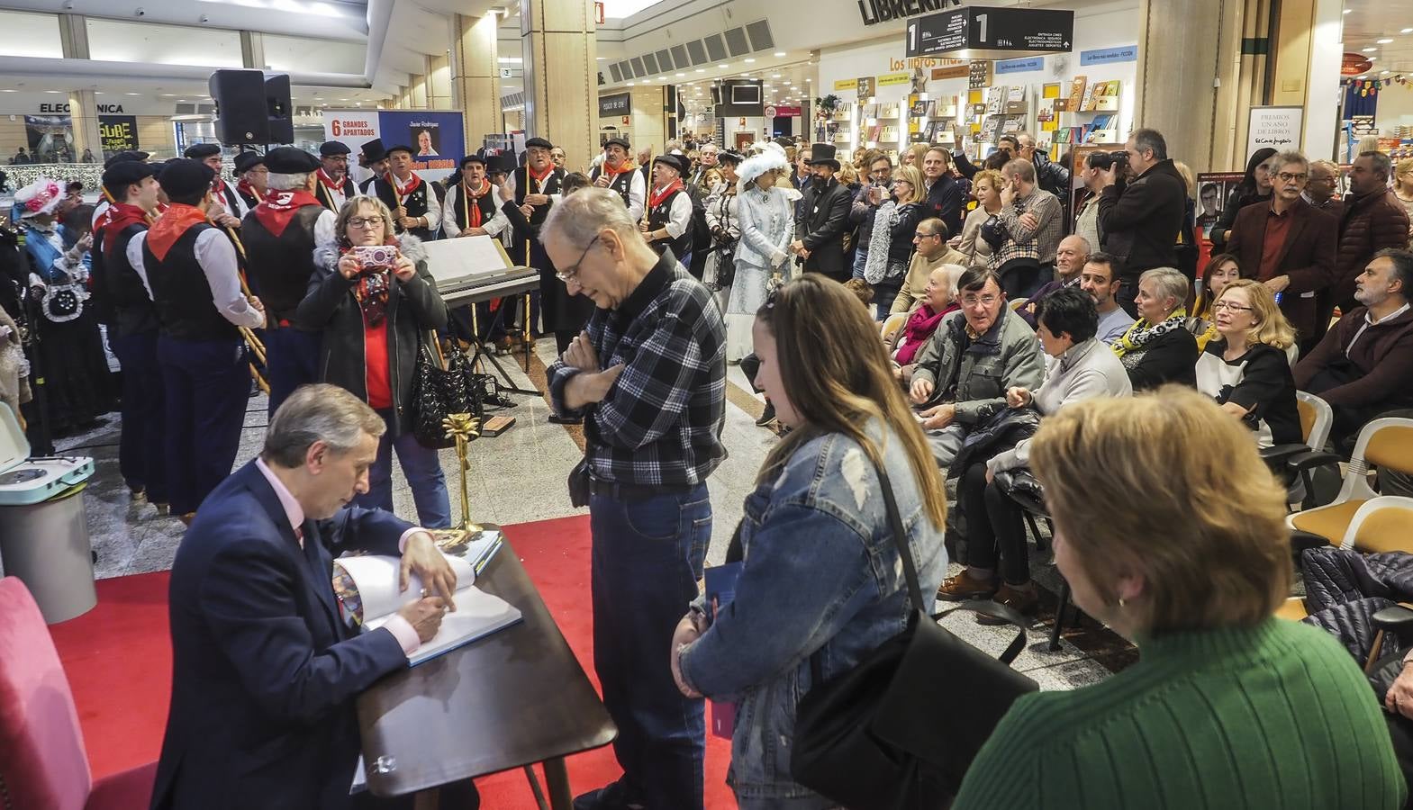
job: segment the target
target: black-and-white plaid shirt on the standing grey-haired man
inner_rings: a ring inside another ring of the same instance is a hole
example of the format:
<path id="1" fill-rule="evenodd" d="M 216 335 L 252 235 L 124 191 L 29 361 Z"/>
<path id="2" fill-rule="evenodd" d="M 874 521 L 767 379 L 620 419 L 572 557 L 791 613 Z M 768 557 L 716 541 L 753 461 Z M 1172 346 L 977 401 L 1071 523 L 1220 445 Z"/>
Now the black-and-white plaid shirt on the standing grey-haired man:
<path id="1" fill-rule="evenodd" d="M 634 485 L 695 485 L 726 457 L 726 326 L 711 292 L 671 253 L 617 309 L 595 309 L 588 325 L 599 365 L 623 373 L 602 402 L 565 405 L 577 368 L 550 365 L 550 399 L 561 415 L 584 415 L 595 478 Z"/>

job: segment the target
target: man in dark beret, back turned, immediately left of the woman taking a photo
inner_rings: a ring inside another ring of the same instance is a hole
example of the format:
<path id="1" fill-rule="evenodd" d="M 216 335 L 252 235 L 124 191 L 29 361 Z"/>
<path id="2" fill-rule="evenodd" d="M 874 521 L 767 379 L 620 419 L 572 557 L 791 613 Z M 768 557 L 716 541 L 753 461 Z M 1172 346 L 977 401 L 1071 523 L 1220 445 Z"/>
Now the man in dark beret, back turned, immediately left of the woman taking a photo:
<path id="1" fill-rule="evenodd" d="M 304 150 L 278 147 L 266 155 L 270 193 L 246 214 L 240 229 L 250 286 L 266 308 L 266 370 L 270 415 L 307 382 L 318 381 L 319 330 L 295 318 L 314 275 L 314 248 L 336 241 L 338 217 L 315 189 L 319 159 Z"/>

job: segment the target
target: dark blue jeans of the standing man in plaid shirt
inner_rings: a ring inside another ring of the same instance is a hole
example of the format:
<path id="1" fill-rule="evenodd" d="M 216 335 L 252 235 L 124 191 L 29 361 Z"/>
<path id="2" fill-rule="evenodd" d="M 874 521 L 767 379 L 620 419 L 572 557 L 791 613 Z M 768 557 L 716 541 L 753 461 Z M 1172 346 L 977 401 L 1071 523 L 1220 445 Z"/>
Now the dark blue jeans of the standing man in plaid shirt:
<path id="1" fill-rule="evenodd" d="M 636 501 L 593 495 L 589 525 L 593 669 L 619 728 L 625 793 L 651 810 L 701 810 L 704 701 L 677 690 L 668 651 L 711 542 L 706 485 Z"/>

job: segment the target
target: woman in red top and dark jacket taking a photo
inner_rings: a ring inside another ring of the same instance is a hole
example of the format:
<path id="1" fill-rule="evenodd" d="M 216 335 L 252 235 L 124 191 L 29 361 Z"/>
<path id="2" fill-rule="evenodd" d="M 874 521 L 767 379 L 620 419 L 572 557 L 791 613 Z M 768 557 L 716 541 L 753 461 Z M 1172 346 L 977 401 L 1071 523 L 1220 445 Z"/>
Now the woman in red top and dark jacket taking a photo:
<path id="1" fill-rule="evenodd" d="M 363 398 L 387 422 L 360 507 L 393 511 L 393 460 L 413 490 L 418 522 L 451 525 L 451 500 L 437 450 L 413 435 L 413 380 L 420 333 L 447 327 L 447 305 L 427 271 L 422 243 L 393 236 L 393 214 L 377 198 L 339 210 L 336 246 L 314 251 L 319 267 L 300 302 L 301 323 L 322 326 L 319 381 Z"/>

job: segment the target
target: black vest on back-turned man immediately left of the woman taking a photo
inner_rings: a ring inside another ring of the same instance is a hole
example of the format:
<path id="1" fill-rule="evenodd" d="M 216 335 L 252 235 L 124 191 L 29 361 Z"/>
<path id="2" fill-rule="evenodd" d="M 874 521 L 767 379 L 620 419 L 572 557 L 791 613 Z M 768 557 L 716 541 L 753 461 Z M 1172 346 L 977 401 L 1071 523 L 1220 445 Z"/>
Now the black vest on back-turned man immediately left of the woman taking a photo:
<path id="1" fill-rule="evenodd" d="M 294 310 L 304 301 L 314 275 L 314 223 L 322 213 L 324 206 L 300 206 L 280 236 L 270 233 L 254 212 L 240 223 L 246 274 L 254 294 L 266 305 L 268 327 L 291 325 Z"/>

